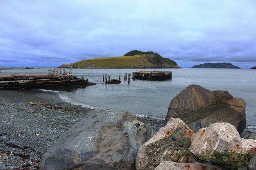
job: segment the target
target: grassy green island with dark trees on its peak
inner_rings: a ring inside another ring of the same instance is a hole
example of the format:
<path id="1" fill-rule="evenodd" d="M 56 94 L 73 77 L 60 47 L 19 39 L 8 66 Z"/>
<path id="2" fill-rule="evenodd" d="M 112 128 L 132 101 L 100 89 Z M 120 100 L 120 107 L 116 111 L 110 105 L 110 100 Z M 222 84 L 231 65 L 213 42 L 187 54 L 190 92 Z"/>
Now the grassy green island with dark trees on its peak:
<path id="1" fill-rule="evenodd" d="M 60 68 L 181 68 L 158 53 L 133 50 L 120 57 L 105 57 L 62 64 Z"/>

